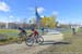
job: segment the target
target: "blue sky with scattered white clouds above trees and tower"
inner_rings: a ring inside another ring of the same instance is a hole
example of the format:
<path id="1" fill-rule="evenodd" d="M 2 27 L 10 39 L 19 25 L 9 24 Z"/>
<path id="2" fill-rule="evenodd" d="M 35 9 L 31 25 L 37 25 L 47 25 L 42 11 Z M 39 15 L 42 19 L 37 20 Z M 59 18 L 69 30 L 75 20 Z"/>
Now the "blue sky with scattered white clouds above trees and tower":
<path id="1" fill-rule="evenodd" d="M 36 5 L 40 16 L 55 14 L 59 23 L 82 23 L 82 0 L 0 0 L 0 22 L 27 18 L 28 23 Z"/>

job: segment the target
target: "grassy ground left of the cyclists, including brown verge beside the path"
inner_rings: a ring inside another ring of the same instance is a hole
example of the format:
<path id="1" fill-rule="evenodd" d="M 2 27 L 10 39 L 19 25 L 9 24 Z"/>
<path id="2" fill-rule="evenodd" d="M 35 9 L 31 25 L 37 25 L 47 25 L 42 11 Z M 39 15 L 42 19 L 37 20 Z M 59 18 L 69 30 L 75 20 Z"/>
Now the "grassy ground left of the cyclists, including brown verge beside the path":
<path id="1" fill-rule="evenodd" d="M 3 35 L 7 37 L 4 40 L 0 40 L 0 45 L 2 44 L 8 44 L 8 43 L 13 43 L 16 41 L 19 30 L 16 29 L 0 29 L 0 36 Z M 26 30 L 27 35 L 31 33 L 31 30 Z"/>

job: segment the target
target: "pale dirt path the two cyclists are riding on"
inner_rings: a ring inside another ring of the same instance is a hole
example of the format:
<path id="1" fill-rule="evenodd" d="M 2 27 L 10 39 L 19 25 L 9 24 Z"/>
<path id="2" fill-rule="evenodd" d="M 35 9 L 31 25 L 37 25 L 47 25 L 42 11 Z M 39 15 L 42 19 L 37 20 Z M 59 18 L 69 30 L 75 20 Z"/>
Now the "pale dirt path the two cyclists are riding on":
<path id="1" fill-rule="evenodd" d="M 0 46 L 0 54 L 36 54 L 37 52 L 49 48 L 50 45 L 52 45 L 52 43 L 61 41 L 63 39 L 61 33 L 46 35 L 43 37 L 45 40 L 43 45 L 35 44 L 33 46 L 27 46 L 24 42 L 22 44 L 14 43 L 9 45 L 2 45 Z"/>

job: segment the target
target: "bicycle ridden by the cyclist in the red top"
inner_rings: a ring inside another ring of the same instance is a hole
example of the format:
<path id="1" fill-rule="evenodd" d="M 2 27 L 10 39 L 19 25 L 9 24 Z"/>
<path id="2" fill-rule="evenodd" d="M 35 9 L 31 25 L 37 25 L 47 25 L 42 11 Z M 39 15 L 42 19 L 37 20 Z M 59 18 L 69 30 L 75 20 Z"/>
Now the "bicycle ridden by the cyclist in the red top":
<path id="1" fill-rule="evenodd" d="M 37 38 L 33 38 L 32 36 L 28 36 L 25 43 L 28 46 L 34 45 L 34 43 L 43 44 L 44 38 L 42 36 L 37 36 Z"/>

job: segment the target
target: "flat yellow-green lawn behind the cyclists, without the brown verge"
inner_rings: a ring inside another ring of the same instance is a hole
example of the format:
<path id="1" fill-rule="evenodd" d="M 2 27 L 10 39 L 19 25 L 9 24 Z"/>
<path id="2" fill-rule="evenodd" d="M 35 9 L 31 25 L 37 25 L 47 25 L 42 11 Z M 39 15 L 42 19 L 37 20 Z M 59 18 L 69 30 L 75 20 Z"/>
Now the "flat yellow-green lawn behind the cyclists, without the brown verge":
<path id="1" fill-rule="evenodd" d="M 17 35 L 19 35 L 19 30 L 16 30 L 16 29 L 0 29 L 0 33 L 2 33 L 2 35 L 5 35 L 5 36 L 8 36 L 9 38 L 10 37 L 17 37 Z M 31 30 L 26 30 L 26 32 L 27 33 L 30 33 L 31 32 Z"/>

